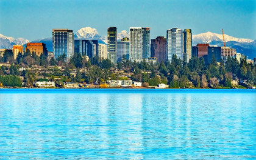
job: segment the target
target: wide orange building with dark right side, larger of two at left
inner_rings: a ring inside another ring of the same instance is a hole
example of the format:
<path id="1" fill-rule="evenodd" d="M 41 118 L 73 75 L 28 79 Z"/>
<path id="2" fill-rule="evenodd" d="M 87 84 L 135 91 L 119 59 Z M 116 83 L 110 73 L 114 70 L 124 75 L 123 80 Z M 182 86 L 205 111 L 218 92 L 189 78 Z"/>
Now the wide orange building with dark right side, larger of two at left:
<path id="1" fill-rule="evenodd" d="M 41 54 L 48 56 L 48 50 L 44 43 L 27 43 L 25 50 L 30 53 L 35 53 L 37 56 L 41 56 Z"/>

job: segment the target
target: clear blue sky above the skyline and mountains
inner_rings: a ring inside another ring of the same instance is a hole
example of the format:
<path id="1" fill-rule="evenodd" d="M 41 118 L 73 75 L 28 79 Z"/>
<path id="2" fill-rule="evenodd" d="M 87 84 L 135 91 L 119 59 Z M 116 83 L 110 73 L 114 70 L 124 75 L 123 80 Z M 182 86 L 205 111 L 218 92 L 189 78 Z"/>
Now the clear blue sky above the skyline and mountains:
<path id="1" fill-rule="evenodd" d="M 0 33 L 29 41 L 52 36 L 52 28 L 151 27 L 151 38 L 166 36 L 169 28 L 191 28 L 193 35 L 213 32 L 256 39 L 256 1 L 54 1 L 0 0 Z"/>

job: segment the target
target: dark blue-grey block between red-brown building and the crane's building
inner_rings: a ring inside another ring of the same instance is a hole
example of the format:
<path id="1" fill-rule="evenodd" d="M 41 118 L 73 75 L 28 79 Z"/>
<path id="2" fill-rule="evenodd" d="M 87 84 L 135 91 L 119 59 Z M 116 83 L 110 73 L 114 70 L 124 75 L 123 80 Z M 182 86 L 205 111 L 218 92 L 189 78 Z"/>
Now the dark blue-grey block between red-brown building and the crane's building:
<path id="1" fill-rule="evenodd" d="M 213 55 L 217 62 L 221 61 L 221 47 L 208 47 L 207 59 L 205 59 L 205 64 L 210 64 L 212 62 Z"/>

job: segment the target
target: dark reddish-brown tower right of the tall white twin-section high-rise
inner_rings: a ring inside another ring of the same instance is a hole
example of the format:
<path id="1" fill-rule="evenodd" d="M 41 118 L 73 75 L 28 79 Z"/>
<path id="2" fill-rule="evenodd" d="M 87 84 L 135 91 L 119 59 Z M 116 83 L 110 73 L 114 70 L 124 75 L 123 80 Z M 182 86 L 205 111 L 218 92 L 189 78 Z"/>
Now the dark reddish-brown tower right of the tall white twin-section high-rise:
<path id="1" fill-rule="evenodd" d="M 157 62 L 166 62 L 166 38 L 158 36 L 151 39 L 151 57 L 157 58 Z"/>

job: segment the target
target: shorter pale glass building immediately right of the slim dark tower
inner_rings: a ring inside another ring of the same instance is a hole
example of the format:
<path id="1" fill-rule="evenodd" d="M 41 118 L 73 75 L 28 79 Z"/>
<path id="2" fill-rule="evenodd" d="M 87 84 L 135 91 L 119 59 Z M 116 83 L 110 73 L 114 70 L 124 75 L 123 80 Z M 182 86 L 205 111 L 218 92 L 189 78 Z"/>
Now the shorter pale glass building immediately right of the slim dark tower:
<path id="1" fill-rule="evenodd" d="M 121 62 L 123 56 L 126 56 L 126 59 L 129 59 L 129 50 L 130 50 L 130 40 L 129 38 L 125 37 L 118 41 L 117 47 L 117 61 Z"/>

